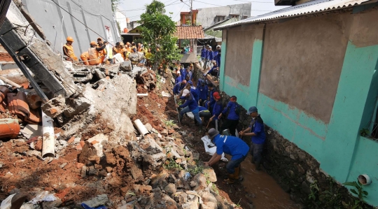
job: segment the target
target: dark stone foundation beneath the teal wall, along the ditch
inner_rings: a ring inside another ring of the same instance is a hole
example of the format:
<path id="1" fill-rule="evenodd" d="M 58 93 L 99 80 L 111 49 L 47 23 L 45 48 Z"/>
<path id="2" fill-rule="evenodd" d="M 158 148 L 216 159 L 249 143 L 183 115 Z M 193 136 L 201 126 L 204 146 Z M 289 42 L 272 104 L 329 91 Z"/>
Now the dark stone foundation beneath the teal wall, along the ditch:
<path id="1" fill-rule="evenodd" d="M 223 106 L 230 101 L 230 96 L 221 92 Z M 232 95 L 231 95 L 232 96 Z M 251 117 L 246 115 L 242 107 L 237 129 L 246 129 Z M 264 115 L 261 115 L 264 120 Z M 348 192 L 343 182 L 335 180 L 323 173 L 320 164 L 295 143 L 283 138 L 278 131 L 265 125 L 267 136 L 263 152 L 263 170 L 272 175 L 281 188 L 290 194 L 290 199 L 301 203 L 303 208 L 351 208 L 354 197 Z M 248 145 L 251 138 L 242 138 Z M 310 198 L 311 197 L 311 198 Z M 364 205 L 363 208 L 372 208 Z"/>

